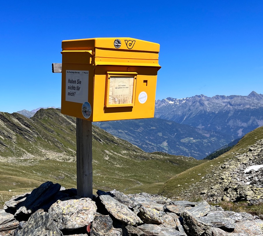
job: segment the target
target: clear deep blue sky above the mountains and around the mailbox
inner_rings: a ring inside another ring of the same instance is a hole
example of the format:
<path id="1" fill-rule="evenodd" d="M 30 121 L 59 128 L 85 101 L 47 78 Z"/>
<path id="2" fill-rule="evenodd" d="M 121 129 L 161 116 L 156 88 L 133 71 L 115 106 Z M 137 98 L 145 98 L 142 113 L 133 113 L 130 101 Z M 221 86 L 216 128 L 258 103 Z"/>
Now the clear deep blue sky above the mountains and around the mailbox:
<path id="1" fill-rule="evenodd" d="M 263 1 L 1 1 L 0 111 L 60 107 L 61 41 L 160 44 L 156 99 L 263 93 Z"/>

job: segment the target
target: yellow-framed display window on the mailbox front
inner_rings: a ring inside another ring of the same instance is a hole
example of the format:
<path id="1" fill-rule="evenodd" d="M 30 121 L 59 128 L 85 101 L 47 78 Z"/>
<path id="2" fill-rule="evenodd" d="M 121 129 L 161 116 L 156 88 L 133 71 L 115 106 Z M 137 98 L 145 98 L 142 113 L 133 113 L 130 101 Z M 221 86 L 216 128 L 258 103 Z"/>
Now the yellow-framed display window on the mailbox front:
<path id="1" fill-rule="evenodd" d="M 111 74 L 107 77 L 106 107 L 134 105 L 136 74 Z"/>

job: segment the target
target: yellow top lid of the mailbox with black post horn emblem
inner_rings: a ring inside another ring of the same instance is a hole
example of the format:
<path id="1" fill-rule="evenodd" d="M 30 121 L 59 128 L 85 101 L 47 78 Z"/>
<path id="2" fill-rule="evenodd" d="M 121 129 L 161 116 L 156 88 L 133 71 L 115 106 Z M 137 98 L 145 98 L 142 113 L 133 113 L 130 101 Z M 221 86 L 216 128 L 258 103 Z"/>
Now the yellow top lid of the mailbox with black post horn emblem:
<path id="1" fill-rule="evenodd" d="M 93 38 L 63 40 L 62 50 L 90 50 L 91 48 L 128 51 L 159 52 L 160 44 L 133 38 Z"/>

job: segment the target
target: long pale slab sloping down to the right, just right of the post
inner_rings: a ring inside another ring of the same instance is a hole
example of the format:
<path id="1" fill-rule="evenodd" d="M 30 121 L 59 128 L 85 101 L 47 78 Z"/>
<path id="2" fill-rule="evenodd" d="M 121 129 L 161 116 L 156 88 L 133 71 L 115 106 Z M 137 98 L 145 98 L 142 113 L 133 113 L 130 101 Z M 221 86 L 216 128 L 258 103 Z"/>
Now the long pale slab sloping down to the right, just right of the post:
<path id="1" fill-rule="evenodd" d="M 134 214 L 127 206 L 118 202 L 109 195 L 101 195 L 99 199 L 105 206 L 108 212 L 112 214 L 117 220 L 127 223 L 129 225 L 137 225 L 143 223 L 141 219 Z"/>

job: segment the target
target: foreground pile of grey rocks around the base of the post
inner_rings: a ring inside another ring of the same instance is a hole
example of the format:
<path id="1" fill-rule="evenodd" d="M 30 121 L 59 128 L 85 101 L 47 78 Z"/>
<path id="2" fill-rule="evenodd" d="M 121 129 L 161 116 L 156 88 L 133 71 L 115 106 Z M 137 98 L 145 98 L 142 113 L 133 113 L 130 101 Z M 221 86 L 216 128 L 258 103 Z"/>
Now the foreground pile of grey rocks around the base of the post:
<path id="1" fill-rule="evenodd" d="M 263 221 L 207 202 L 173 201 L 147 193 L 76 189 L 43 183 L 13 197 L 0 211 L 0 236 L 242 236 L 263 235 Z"/>

